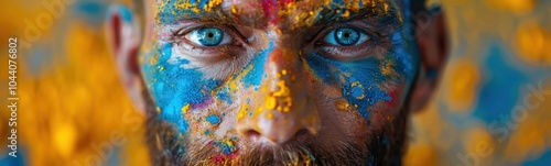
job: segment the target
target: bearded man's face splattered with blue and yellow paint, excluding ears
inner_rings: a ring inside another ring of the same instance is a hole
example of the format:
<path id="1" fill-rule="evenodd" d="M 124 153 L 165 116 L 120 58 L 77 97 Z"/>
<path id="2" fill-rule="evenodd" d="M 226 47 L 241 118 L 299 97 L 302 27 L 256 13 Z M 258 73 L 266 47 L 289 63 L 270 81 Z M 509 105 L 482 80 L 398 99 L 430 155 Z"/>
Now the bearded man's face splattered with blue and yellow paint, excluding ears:
<path id="1" fill-rule="evenodd" d="M 145 2 L 153 148 L 192 165 L 399 163 L 418 67 L 402 16 L 392 0 Z"/>

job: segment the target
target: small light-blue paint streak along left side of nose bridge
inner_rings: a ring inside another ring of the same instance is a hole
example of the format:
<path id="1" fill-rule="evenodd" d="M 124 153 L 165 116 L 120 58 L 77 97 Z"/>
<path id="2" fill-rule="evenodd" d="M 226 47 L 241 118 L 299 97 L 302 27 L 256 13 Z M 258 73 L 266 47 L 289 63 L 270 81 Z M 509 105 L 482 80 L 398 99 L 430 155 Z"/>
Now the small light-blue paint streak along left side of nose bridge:
<path id="1" fill-rule="evenodd" d="M 245 66 L 250 70 L 244 76 L 245 88 L 249 86 L 259 86 L 260 80 L 262 80 L 262 74 L 264 73 L 264 65 L 268 60 L 268 56 L 273 52 L 273 41 L 270 41 L 270 46 L 262 51 L 260 54 L 256 55 L 252 60 Z"/>

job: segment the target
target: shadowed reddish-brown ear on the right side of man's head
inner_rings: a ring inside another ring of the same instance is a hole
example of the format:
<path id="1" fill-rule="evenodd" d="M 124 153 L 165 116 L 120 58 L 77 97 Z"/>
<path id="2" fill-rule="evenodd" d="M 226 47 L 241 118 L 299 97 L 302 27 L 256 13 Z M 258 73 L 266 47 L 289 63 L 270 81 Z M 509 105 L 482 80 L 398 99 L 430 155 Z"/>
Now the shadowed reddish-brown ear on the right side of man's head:
<path id="1" fill-rule="evenodd" d="M 421 110 L 437 88 L 449 54 L 447 29 L 443 12 L 430 14 L 429 19 L 417 18 L 415 40 L 421 56 L 421 66 L 415 87 L 410 96 L 412 112 Z"/>

